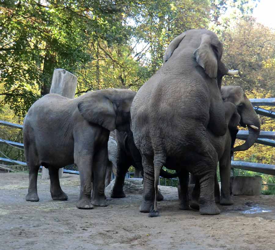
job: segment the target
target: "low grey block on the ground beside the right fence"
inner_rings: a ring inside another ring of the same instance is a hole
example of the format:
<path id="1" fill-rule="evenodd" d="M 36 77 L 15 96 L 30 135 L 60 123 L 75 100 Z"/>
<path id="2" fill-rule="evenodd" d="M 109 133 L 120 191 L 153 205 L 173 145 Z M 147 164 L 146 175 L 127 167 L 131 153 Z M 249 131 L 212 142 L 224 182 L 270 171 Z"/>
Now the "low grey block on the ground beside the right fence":
<path id="1" fill-rule="evenodd" d="M 233 176 L 230 178 L 232 195 L 260 195 L 262 191 L 262 177 Z"/>

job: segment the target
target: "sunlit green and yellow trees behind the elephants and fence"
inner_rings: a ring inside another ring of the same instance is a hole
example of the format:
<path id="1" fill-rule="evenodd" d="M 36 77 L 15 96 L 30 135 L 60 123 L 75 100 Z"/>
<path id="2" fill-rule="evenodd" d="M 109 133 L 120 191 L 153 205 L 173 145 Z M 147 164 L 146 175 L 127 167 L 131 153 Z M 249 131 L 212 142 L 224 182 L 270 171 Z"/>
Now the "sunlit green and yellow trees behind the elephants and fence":
<path id="1" fill-rule="evenodd" d="M 1 1 L 0 119 L 22 124 L 32 103 L 49 92 L 55 68 L 78 77 L 76 96 L 103 88 L 138 90 L 161 67 L 169 42 L 193 28 L 214 30 L 227 66 L 240 70 L 240 76 L 225 77 L 225 85 L 241 86 L 249 98 L 274 97 L 274 30 L 249 16 L 256 2 Z M 230 17 L 224 15 L 228 8 Z M 260 119 L 262 130 L 274 130 L 273 119 Z M 0 137 L 22 142 L 22 134 L 8 127 L 1 127 Z M 20 150 L 0 150 L 24 161 Z M 235 159 L 274 164 L 274 150 L 256 144 Z"/>

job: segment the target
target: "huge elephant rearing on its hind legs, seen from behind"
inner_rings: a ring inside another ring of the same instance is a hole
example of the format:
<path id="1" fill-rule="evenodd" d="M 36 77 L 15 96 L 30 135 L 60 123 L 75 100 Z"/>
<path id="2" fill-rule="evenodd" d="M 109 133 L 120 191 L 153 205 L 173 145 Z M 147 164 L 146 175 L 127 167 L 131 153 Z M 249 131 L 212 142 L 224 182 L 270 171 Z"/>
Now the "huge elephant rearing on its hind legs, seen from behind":
<path id="1" fill-rule="evenodd" d="M 140 211 L 158 216 L 157 183 L 165 164 L 178 170 L 179 182 L 193 173 L 200 180 L 200 213 L 220 210 L 214 200 L 218 155 L 207 136 L 210 129 L 223 136 L 236 112 L 220 94 L 221 78 L 229 71 L 222 43 L 210 30 L 188 30 L 176 37 L 164 55 L 164 64 L 138 91 L 131 106 L 134 142 L 141 152 L 144 194 Z M 180 170 L 180 171 L 179 171 Z M 188 202 L 180 204 L 188 209 Z"/>

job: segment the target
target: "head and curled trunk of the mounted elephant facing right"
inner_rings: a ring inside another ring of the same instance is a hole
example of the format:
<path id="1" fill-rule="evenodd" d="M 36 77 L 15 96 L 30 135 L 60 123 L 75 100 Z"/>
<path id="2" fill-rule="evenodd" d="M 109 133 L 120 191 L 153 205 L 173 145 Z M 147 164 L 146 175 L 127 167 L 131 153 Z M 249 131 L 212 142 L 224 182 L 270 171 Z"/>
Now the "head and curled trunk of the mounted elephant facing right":
<path id="1" fill-rule="evenodd" d="M 239 145 L 233 151 L 244 151 L 250 148 L 260 134 L 260 121 L 249 99 L 239 86 L 224 86 L 221 89 L 222 99 L 236 105 L 241 117 L 240 125 L 248 127 L 249 134 L 244 144 Z"/>

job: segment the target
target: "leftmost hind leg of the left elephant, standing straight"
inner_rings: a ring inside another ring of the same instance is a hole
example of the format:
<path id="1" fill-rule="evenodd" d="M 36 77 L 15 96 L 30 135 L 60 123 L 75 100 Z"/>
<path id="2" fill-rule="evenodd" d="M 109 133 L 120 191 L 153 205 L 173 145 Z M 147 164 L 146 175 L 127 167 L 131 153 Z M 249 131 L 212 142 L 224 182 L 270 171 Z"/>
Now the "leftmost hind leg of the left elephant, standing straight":
<path id="1" fill-rule="evenodd" d="M 29 167 L 29 188 L 28 194 L 26 195 L 26 201 L 38 202 L 37 176 L 40 164 L 35 145 L 31 146 L 28 143 L 25 144 L 25 158 Z"/>

